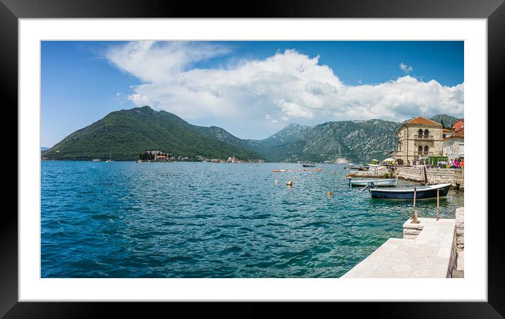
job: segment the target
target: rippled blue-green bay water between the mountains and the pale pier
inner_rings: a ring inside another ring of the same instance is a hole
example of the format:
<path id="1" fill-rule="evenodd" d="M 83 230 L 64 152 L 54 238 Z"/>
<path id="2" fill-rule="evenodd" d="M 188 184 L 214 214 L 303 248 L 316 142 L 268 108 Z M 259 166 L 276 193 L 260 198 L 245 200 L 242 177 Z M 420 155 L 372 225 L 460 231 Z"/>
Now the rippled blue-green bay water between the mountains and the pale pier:
<path id="1" fill-rule="evenodd" d="M 402 237 L 412 202 L 356 193 L 343 165 L 296 168 L 42 161 L 42 277 L 340 277 Z M 440 206 L 454 218 L 463 193 Z"/>

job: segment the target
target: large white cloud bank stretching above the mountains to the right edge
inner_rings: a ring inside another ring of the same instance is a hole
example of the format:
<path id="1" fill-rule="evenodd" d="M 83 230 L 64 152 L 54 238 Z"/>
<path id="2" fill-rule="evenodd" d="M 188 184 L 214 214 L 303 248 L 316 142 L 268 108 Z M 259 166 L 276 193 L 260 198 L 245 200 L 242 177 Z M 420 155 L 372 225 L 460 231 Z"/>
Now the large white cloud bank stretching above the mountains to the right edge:
<path id="1" fill-rule="evenodd" d="M 261 131 L 258 127 L 280 129 L 289 119 L 313 125 L 372 118 L 401 121 L 439 113 L 463 116 L 463 83 L 446 87 L 406 75 L 377 85 L 344 85 L 329 66 L 320 64 L 319 56 L 295 50 L 219 68 L 195 67 L 229 52 L 228 47 L 203 42 L 130 42 L 112 47 L 107 58 L 142 80 L 129 95 L 135 105 L 164 109 L 193 123 L 235 127 L 232 134 L 241 137 L 252 137 Z M 404 63 L 400 68 L 413 70 Z"/>

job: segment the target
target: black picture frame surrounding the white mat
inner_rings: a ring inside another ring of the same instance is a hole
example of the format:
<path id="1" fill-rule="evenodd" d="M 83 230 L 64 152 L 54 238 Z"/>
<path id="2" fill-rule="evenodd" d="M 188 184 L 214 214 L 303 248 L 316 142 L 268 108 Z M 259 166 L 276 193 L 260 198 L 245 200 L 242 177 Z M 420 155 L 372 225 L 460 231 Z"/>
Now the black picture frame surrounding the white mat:
<path id="1" fill-rule="evenodd" d="M 501 83 L 504 82 L 505 57 L 505 4 L 504 0 L 345 0 L 345 1 L 254 1 L 248 5 L 238 5 L 236 1 L 202 1 L 197 5 L 190 1 L 139 1 L 128 0 L 0 0 L 0 82 L 1 96 L 4 98 L 4 117 L 11 125 L 17 125 L 18 112 L 18 19 L 20 18 L 487 18 L 488 45 L 488 106 L 492 113 L 489 127 L 499 127 L 497 121 L 503 115 L 499 100 Z M 224 11 L 223 8 L 232 8 Z M 493 106 L 493 108 L 489 106 Z M 8 111 L 6 111 L 8 108 Z M 496 124 L 496 125 L 493 125 Z M 17 139 L 13 132 L 17 127 L 4 125 L 4 137 L 11 137 L 3 146 L 9 149 L 2 156 L 4 167 L 18 170 Z M 487 132 L 482 132 L 487 134 Z M 488 134 L 488 145 L 500 144 L 497 134 Z M 503 143 L 501 143 L 503 144 Z M 13 150 L 17 150 L 16 152 Z M 22 153 L 22 152 L 21 152 Z M 20 155 L 22 156 L 22 155 Z M 490 157 L 482 154 L 487 165 L 500 165 L 501 156 Z M 487 165 L 482 173 L 487 175 Z M 4 199 L 18 198 L 17 174 L 6 169 L 5 180 L 9 182 L 4 191 Z M 497 199 L 499 189 L 488 184 L 488 199 Z M 471 199 L 470 199 L 471 200 Z M 491 202 L 489 201 L 489 204 Z M 102 313 L 104 308 L 135 313 L 134 307 L 143 315 L 154 313 L 153 308 L 164 304 L 114 304 L 114 303 L 27 303 L 18 302 L 18 218 L 17 201 L 14 207 L 1 212 L 0 221 L 0 316 L 5 318 L 59 318 L 61 316 L 82 318 Z M 492 207 L 489 205 L 489 208 Z M 491 211 L 483 207 L 485 215 Z M 339 313 L 348 310 L 383 314 L 390 318 L 503 318 L 505 314 L 504 237 L 500 225 L 502 209 L 487 214 L 488 220 L 488 301 L 471 303 L 366 303 L 369 307 L 339 304 Z M 172 307 L 172 306 L 171 306 Z M 343 308 L 342 308 L 343 307 Z M 140 308 L 140 309 L 139 309 Z M 347 308 L 347 309 L 346 309 Z M 254 311 L 248 313 L 252 315 Z M 394 314 L 394 315 L 392 315 Z"/>

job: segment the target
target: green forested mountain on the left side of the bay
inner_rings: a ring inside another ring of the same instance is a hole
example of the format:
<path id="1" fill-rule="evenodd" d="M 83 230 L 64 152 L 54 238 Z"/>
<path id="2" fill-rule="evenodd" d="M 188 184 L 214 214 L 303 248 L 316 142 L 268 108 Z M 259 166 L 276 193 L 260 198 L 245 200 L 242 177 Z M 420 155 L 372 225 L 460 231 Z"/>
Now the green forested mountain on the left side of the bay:
<path id="1" fill-rule="evenodd" d="M 68 135 L 45 152 L 44 157 L 91 159 L 111 156 L 115 160 L 136 160 L 143 151 L 159 149 L 169 151 L 172 156 L 187 156 L 193 160 L 197 156 L 260 158 L 249 149 L 215 137 L 219 130 L 219 127 L 190 125 L 172 113 L 143 106 L 109 113 L 102 120 Z"/>

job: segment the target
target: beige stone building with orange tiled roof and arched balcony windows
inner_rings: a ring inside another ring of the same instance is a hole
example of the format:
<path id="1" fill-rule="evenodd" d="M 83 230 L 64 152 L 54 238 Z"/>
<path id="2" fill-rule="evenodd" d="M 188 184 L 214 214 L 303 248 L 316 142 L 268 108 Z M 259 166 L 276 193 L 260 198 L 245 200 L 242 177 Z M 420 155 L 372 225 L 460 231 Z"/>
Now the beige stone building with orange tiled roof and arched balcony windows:
<path id="1" fill-rule="evenodd" d="M 393 156 L 399 165 L 409 165 L 419 158 L 442 155 L 442 124 L 418 116 L 403 123 L 396 131 L 398 146 Z"/>

